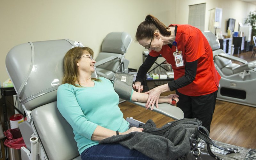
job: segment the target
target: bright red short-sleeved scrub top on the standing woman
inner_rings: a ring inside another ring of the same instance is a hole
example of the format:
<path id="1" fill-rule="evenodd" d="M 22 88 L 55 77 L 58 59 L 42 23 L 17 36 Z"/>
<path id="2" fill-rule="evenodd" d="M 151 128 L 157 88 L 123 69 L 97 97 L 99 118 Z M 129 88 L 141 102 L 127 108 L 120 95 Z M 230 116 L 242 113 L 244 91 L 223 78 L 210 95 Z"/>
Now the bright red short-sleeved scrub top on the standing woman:
<path id="1" fill-rule="evenodd" d="M 177 42 L 178 51 L 182 51 L 184 64 L 197 60 L 195 80 L 187 86 L 179 88 L 178 91 L 188 96 L 200 96 L 215 92 L 218 90 L 220 74 L 213 64 L 212 48 L 209 42 L 196 27 L 188 24 L 171 24 L 170 26 L 176 25 L 175 41 Z M 149 53 L 152 57 L 157 57 L 161 54 L 172 65 L 174 80 L 185 74 L 185 66 L 175 66 L 173 57 L 173 52 L 175 51 L 175 46 L 170 48 L 168 45 L 163 45 L 160 52 L 151 51 Z"/>

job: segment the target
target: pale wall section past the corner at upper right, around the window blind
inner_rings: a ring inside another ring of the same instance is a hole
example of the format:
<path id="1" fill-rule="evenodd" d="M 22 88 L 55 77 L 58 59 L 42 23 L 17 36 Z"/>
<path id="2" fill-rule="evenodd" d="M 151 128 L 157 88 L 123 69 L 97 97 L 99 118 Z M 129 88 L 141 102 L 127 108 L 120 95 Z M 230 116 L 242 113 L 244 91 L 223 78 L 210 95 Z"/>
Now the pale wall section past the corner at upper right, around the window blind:
<path id="1" fill-rule="evenodd" d="M 245 18 L 250 11 L 256 10 L 256 5 L 252 3 L 246 3 L 240 0 L 176 0 L 176 23 L 184 24 L 188 23 L 188 10 L 189 5 L 206 3 L 205 8 L 205 30 L 208 30 L 210 11 L 213 8 L 222 8 L 222 21 L 221 28 L 217 28 L 217 32 L 222 32 L 227 35 L 227 21 L 229 18 L 236 19 L 235 30 L 238 31 L 238 23 L 244 23 Z"/>

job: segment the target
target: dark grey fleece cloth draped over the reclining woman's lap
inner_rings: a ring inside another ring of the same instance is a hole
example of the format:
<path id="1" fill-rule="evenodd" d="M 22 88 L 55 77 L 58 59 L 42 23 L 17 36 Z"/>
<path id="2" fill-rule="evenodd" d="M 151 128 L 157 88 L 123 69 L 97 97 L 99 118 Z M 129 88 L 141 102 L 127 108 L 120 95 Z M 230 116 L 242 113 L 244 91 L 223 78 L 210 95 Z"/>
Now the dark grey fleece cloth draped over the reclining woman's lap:
<path id="1" fill-rule="evenodd" d="M 195 128 L 201 125 L 202 122 L 197 119 L 185 118 L 156 128 L 156 124 L 148 120 L 141 126 L 143 132 L 112 136 L 99 143 L 119 143 L 152 159 L 175 160 L 189 151 L 189 138 L 195 132 Z"/>

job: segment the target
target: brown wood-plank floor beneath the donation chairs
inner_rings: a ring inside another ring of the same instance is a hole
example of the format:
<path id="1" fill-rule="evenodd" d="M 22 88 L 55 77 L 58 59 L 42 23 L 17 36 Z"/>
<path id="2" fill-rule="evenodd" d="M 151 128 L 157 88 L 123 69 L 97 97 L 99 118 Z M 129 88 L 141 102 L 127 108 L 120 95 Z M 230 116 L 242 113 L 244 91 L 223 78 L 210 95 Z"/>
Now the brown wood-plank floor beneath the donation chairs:
<path id="1" fill-rule="evenodd" d="M 251 55 L 252 52 L 242 52 L 234 56 L 241 57 L 248 62 L 256 60 L 256 56 L 251 58 Z M 150 84 L 148 86 L 150 87 Z M 252 87 L 256 89 L 256 84 Z M 162 95 L 171 93 L 175 92 L 165 92 Z M 119 107 L 124 114 L 124 118 L 132 116 L 141 122 L 152 119 L 157 127 L 173 121 L 169 117 L 146 110 L 127 101 L 120 103 Z M 210 137 L 213 140 L 256 149 L 256 108 L 217 100 Z"/>

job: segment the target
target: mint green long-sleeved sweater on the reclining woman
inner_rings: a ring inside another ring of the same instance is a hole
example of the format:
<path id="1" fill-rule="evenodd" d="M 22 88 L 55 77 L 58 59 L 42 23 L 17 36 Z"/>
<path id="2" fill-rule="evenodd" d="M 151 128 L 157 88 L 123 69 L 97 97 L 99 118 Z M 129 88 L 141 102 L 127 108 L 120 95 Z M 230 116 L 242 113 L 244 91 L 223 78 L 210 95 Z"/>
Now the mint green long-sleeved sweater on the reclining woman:
<path id="1" fill-rule="evenodd" d="M 98 141 L 91 140 L 98 125 L 119 132 L 125 132 L 129 127 L 118 107 L 119 96 L 113 84 L 103 77 L 100 80 L 94 81 L 94 87 L 63 84 L 57 91 L 57 107 L 73 128 L 80 154 L 99 144 Z"/>

